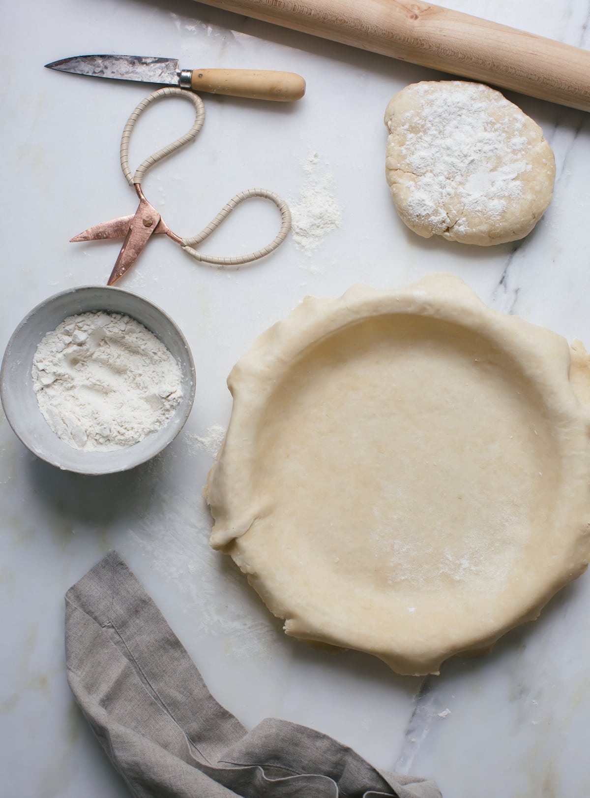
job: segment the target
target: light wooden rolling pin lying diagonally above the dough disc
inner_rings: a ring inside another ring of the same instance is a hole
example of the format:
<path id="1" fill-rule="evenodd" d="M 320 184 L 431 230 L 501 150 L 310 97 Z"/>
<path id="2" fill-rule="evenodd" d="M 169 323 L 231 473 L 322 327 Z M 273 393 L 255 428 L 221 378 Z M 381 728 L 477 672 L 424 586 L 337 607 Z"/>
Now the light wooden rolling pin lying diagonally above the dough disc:
<path id="1" fill-rule="evenodd" d="M 412 0 L 201 0 L 412 64 L 590 111 L 590 52 Z"/>

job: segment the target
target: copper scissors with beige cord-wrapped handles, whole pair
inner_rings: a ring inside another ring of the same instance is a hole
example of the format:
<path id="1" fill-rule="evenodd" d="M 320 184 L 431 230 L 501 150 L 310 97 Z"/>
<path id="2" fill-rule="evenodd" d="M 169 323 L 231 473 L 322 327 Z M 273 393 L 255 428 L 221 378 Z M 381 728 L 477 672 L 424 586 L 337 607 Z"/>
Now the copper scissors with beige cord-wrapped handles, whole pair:
<path id="1" fill-rule="evenodd" d="M 137 168 L 134 174 L 129 168 L 128 160 L 129 140 L 131 139 L 133 127 L 151 102 L 158 100 L 160 97 L 170 96 L 186 97 L 187 100 L 191 101 L 196 110 L 195 123 L 191 129 L 184 134 L 184 136 L 181 136 L 179 139 L 173 141 L 172 144 L 168 144 L 167 147 L 163 147 L 158 152 L 155 152 L 154 155 L 146 158 L 146 160 L 140 164 L 139 168 Z M 210 221 L 207 227 L 204 227 L 200 233 L 192 236 L 191 238 L 183 238 L 171 231 L 170 227 L 167 226 L 162 217 L 159 215 L 158 211 L 155 210 L 155 207 L 148 202 L 148 199 L 145 198 L 144 192 L 141 188 L 141 181 L 143 180 L 146 172 L 148 172 L 148 169 L 150 169 L 154 164 L 157 164 L 166 156 L 171 155 L 172 152 L 175 152 L 177 149 L 191 142 L 203 127 L 204 120 L 205 108 L 203 106 L 203 100 L 201 100 L 198 94 L 187 91 L 186 89 L 171 88 L 158 89 L 157 91 L 148 95 L 148 97 L 145 97 L 145 99 L 140 102 L 140 105 L 138 105 L 133 111 L 131 117 L 129 117 L 127 120 L 127 124 L 125 124 L 124 127 L 123 136 L 121 136 L 121 168 L 126 180 L 128 181 L 128 184 L 135 188 L 136 194 L 140 198 L 140 204 L 137 207 L 135 214 L 120 216 L 118 219 L 110 219 L 108 222 L 95 224 L 94 227 L 88 227 L 88 230 L 85 230 L 79 235 L 75 235 L 73 239 L 70 239 L 71 241 L 96 241 L 99 239 L 124 238 L 119 257 L 116 259 L 111 276 L 108 278 L 107 284 L 109 286 L 112 286 L 113 283 L 120 279 L 125 272 L 132 267 L 133 263 L 136 262 L 136 259 L 140 255 L 140 252 L 144 249 L 145 245 L 151 238 L 151 235 L 154 234 L 165 233 L 173 241 L 179 243 L 180 246 L 183 247 L 183 250 L 188 252 L 189 255 L 192 255 L 192 257 L 196 260 L 202 261 L 203 263 L 212 263 L 214 266 L 219 267 L 238 267 L 244 263 L 252 263 L 254 260 L 258 260 L 260 258 L 264 258 L 266 255 L 269 255 L 270 252 L 277 249 L 277 247 L 285 240 L 285 237 L 291 228 L 291 213 L 289 211 L 289 206 L 287 203 L 285 203 L 284 199 L 281 199 L 281 197 L 275 192 L 271 192 L 266 188 L 250 188 L 248 191 L 236 194 L 236 196 L 232 197 L 230 201 L 226 203 L 224 207 L 222 207 L 222 210 L 219 211 L 214 219 Z M 211 233 L 222 223 L 223 219 L 226 219 L 227 215 L 234 210 L 235 207 L 237 207 L 245 199 L 250 199 L 251 197 L 262 197 L 263 199 L 269 199 L 281 212 L 281 229 L 275 238 L 266 245 L 266 247 L 262 247 L 262 249 L 259 249 L 255 252 L 250 252 L 248 255 L 236 255 L 233 258 L 221 258 L 216 255 L 204 255 L 202 252 L 195 250 L 194 247 L 207 239 Z"/>

